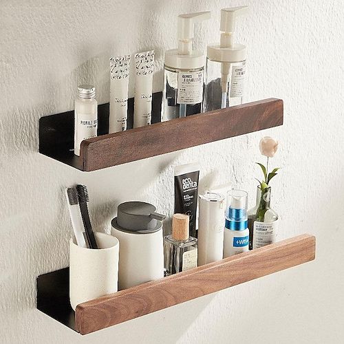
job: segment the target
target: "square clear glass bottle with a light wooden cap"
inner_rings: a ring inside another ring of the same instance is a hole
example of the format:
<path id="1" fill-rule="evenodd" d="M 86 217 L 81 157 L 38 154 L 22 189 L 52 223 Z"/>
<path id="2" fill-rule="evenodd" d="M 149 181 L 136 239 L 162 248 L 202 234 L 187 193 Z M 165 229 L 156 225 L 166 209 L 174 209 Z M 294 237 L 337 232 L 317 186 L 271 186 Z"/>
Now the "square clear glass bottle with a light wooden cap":
<path id="1" fill-rule="evenodd" d="M 166 275 L 197 267 L 197 239 L 189 237 L 189 215 L 174 214 L 172 234 L 164 237 Z"/>

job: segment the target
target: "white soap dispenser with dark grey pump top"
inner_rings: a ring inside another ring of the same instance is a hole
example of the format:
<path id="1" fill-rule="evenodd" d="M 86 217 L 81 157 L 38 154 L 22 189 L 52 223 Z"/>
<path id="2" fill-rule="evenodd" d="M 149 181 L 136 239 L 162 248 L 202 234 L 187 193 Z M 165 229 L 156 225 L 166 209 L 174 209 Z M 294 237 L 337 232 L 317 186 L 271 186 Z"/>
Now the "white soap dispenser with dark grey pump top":
<path id="1" fill-rule="evenodd" d="M 155 206 L 125 202 L 111 221 L 111 235 L 120 241 L 118 287 L 127 289 L 164 277 L 162 220 Z"/>

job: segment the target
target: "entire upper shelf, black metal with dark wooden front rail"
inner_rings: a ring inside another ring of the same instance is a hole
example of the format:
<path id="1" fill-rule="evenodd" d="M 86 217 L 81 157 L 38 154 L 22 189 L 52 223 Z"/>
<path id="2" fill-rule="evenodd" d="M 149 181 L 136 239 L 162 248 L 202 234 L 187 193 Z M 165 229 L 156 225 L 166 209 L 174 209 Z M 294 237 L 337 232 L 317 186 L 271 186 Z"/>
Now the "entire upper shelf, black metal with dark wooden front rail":
<path id="1" fill-rule="evenodd" d="M 161 92 L 153 94 L 152 125 L 107 134 L 109 103 L 98 106 L 98 135 L 74 155 L 74 111 L 39 120 L 39 152 L 81 171 L 95 171 L 155 155 L 283 125 L 283 100 L 269 98 L 203 114 L 160 121 Z M 128 101 L 128 127 L 133 98 Z"/>

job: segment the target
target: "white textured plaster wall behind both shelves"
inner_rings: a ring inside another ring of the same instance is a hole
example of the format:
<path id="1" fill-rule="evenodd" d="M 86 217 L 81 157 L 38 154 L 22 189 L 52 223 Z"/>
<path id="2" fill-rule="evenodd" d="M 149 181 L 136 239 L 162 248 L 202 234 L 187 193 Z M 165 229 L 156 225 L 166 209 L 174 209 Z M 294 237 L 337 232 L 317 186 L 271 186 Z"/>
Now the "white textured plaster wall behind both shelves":
<path id="1" fill-rule="evenodd" d="M 343 343 L 344 102 L 341 1 L 246 1 L 246 100 L 283 98 L 285 125 L 93 173 L 38 153 L 41 116 L 73 108 L 76 85 L 109 101 L 109 55 L 175 45 L 176 17 L 212 10 L 199 46 L 219 39 L 219 9 L 239 1 L 0 2 L 1 343 Z M 131 94 L 133 88 L 131 87 Z M 192 129 L 192 128 L 191 128 Z M 94 223 L 108 230 L 119 202 L 173 209 L 173 165 L 200 160 L 203 180 L 255 192 L 257 143 L 275 136 L 273 205 L 280 238 L 312 233 L 316 261 L 80 336 L 35 309 L 37 275 L 68 264 L 63 188 L 89 187 Z"/>

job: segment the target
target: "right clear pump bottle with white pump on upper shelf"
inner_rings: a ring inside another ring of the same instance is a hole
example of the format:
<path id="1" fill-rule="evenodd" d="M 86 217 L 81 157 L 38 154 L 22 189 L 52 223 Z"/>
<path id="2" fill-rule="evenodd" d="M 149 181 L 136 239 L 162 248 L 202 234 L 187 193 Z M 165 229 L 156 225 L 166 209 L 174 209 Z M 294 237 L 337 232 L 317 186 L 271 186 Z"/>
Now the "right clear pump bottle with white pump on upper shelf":
<path id="1" fill-rule="evenodd" d="M 240 105 L 246 77 L 246 46 L 234 43 L 237 17 L 248 13 L 248 6 L 221 10 L 220 43 L 206 53 L 203 111 Z"/>

